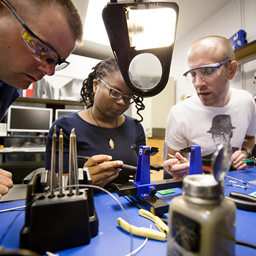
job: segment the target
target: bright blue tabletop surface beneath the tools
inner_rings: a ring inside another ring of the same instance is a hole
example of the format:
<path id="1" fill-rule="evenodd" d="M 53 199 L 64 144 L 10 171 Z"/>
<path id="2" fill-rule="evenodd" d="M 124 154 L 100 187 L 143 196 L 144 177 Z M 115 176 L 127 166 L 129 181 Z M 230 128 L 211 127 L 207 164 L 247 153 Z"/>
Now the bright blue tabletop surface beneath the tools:
<path id="1" fill-rule="evenodd" d="M 242 171 L 233 171 L 228 173 L 228 176 L 235 177 L 244 181 L 256 180 L 256 168 L 248 168 Z M 239 193 L 250 194 L 256 191 L 256 185 L 253 185 L 244 190 L 239 187 L 231 187 L 227 184 L 232 184 L 229 177 L 225 180 L 225 195 L 229 195 L 231 191 Z M 243 182 L 237 181 L 237 185 L 244 186 Z M 164 201 L 170 203 L 174 196 L 182 193 L 181 188 L 175 188 L 175 194 L 161 196 Z M 127 196 L 118 197 L 127 213 L 129 221 L 132 225 L 137 227 L 150 227 L 156 229 L 154 223 L 147 218 L 139 215 L 138 208 L 136 208 Z M 10 209 L 12 207 L 19 207 L 25 205 L 25 201 L 1 202 L 0 210 Z M 61 255 L 127 255 L 132 250 L 140 246 L 145 238 L 131 236 L 120 228 L 116 222 L 118 217 L 126 220 L 124 212 L 111 196 L 105 193 L 98 193 L 94 196 L 94 204 L 99 218 L 99 233 L 92 237 L 90 244 L 71 248 L 57 252 Z M 1 212 L 0 225 L 0 241 L 1 246 L 5 248 L 19 248 L 20 230 L 24 225 L 24 211 Z M 168 218 L 168 214 L 166 214 Z M 249 212 L 237 209 L 236 212 L 236 240 L 247 243 L 256 244 L 256 212 Z M 7 231 L 7 232 L 6 232 Z M 132 243 L 131 243 L 132 242 Z M 148 239 L 147 244 L 136 255 L 166 255 L 167 242 L 155 241 Z M 236 245 L 236 255 L 256 255 L 256 250 L 246 246 Z"/>

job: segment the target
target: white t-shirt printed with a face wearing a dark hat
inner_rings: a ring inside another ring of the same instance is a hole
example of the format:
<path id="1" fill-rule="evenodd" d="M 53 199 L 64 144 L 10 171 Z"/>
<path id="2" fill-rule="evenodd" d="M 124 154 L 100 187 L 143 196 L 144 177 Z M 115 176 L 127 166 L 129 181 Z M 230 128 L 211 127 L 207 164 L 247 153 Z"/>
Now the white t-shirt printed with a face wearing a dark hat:
<path id="1" fill-rule="evenodd" d="M 179 151 L 200 145 L 202 156 L 212 154 L 223 139 L 241 149 L 244 136 L 256 134 L 256 104 L 245 90 L 231 88 L 231 99 L 223 108 L 204 106 L 198 95 L 179 102 L 170 110 L 166 145 Z"/>

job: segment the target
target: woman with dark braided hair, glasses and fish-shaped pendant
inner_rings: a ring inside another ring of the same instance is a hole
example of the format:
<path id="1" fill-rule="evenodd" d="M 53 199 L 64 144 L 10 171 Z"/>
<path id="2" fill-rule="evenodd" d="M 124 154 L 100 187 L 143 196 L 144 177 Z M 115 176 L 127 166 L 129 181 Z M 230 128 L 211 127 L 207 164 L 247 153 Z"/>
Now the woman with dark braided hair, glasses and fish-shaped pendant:
<path id="1" fill-rule="evenodd" d="M 52 133 L 57 125 L 57 134 L 63 130 L 63 172 L 68 172 L 69 136 L 75 128 L 77 155 L 90 156 L 86 163 L 78 161 L 78 166 L 90 168 L 93 184 L 104 187 L 109 182 L 127 182 L 131 173 L 118 166 L 123 163 L 136 166 L 138 148 L 146 142 L 140 122 L 124 112 L 133 102 L 138 111 L 144 109 L 143 99 L 132 95 L 113 58 L 93 68 L 83 82 L 81 97 L 86 109 L 60 116 L 52 124 L 46 143 L 45 168 L 51 166 Z M 58 154 L 56 160 L 57 168 Z"/>

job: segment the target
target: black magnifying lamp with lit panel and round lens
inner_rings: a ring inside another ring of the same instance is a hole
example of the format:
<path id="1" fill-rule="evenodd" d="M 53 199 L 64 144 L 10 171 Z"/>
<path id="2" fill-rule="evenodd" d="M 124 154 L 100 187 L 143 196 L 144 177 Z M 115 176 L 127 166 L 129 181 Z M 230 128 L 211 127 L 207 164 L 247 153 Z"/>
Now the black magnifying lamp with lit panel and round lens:
<path id="1" fill-rule="evenodd" d="M 102 11 L 112 51 L 132 93 L 152 97 L 170 74 L 179 6 L 168 1 L 111 0 Z"/>

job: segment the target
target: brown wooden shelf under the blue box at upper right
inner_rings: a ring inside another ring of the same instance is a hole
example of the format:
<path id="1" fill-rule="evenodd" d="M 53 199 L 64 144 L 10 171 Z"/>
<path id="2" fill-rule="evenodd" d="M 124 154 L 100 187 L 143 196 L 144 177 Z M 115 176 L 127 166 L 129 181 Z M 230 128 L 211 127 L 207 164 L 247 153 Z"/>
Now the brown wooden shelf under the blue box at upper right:
<path id="1" fill-rule="evenodd" d="M 256 59 L 256 40 L 245 44 L 234 51 L 238 65 Z"/>

